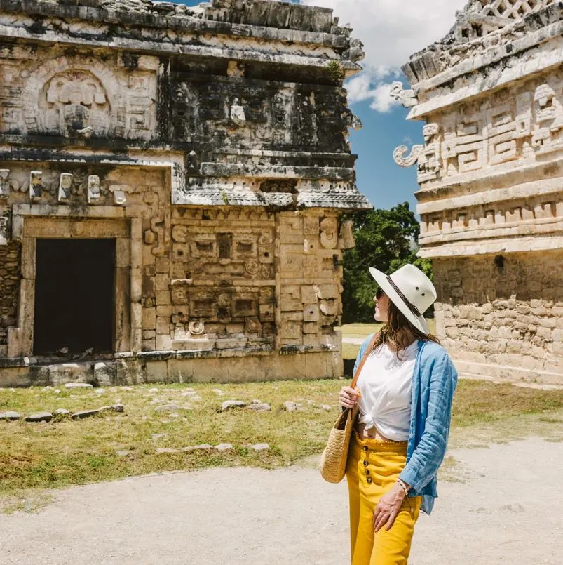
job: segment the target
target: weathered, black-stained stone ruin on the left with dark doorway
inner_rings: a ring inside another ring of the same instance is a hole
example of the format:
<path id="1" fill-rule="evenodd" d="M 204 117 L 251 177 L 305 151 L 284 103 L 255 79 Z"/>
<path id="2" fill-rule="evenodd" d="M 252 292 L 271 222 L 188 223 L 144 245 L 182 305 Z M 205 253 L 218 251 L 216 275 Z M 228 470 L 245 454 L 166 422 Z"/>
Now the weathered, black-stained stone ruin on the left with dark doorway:
<path id="1" fill-rule="evenodd" d="M 342 373 L 332 11 L 0 0 L 0 385 Z"/>

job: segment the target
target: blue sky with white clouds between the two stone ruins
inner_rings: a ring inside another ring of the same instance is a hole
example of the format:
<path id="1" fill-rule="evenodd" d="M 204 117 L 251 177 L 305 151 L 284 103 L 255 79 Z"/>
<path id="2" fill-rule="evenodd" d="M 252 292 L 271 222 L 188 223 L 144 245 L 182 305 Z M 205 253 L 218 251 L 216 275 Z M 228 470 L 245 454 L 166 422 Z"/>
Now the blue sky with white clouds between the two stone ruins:
<path id="1" fill-rule="evenodd" d="M 178 0 L 177 0 L 178 1 Z M 398 145 L 422 142 L 421 121 L 406 121 L 408 110 L 388 95 L 391 83 L 402 80 L 400 67 L 412 53 L 439 41 L 454 25 L 456 11 L 468 0 L 301 0 L 301 4 L 332 8 L 339 25 L 350 25 L 352 36 L 364 44 L 362 72 L 346 81 L 348 104 L 362 121 L 351 132 L 352 152 L 358 155 L 358 189 L 375 208 L 408 201 L 416 209 L 416 166 L 402 168 L 393 161 Z M 184 0 L 194 6 L 197 1 Z"/>

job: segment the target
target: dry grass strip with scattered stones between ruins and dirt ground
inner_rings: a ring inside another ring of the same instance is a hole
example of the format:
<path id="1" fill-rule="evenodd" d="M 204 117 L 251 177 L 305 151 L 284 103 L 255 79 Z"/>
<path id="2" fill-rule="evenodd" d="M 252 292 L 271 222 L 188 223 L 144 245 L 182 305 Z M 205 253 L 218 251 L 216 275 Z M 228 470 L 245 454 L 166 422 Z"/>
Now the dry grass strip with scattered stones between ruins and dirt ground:
<path id="1" fill-rule="evenodd" d="M 150 392 L 154 385 L 113 387 L 104 394 L 95 389 L 62 389 L 60 394 L 39 388 L 0 390 L 0 411 L 23 414 L 58 407 L 75 411 L 118 402 L 125 405 L 125 413 L 80 421 L 0 422 L 0 500 L 4 500 L 4 511 L 25 510 L 28 499 L 18 494 L 22 489 L 222 465 L 292 465 L 323 450 L 339 409 L 337 394 L 344 383 L 292 380 L 191 385 L 201 397 L 199 401 L 183 395 L 189 392 L 188 385 L 157 385 L 158 392 Z M 215 388 L 224 395 L 217 396 Z M 247 408 L 223 413 L 219 408 L 225 399 L 261 399 L 273 409 L 266 413 Z M 282 410 L 286 400 L 300 403 L 301 410 Z M 175 404 L 179 409 L 172 414 L 155 410 L 163 404 Z M 332 409 L 326 411 L 321 404 Z M 462 380 L 454 401 L 452 446 L 503 441 L 520 433 L 558 441 L 563 439 L 562 419 L 563 391 Z M 155 453 L 158 447 L 204 443 L 230 443 L 235 448 L 225 452 Z M 267 443 L 271 448 L 255 452 L 250 445 L 257 443 Z"/>

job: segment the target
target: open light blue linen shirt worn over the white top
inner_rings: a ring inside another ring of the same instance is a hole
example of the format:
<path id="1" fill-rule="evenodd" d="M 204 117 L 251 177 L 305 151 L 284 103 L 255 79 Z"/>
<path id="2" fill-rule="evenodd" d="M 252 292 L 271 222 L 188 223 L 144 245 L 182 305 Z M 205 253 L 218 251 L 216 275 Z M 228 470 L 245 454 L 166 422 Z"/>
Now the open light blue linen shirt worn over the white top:
<path id="1" fill-rule="evenodd" d="M 373 334 L 362 343 L 354 374 Z M 419 341 L 412 373 L 411 418 L 407 464 L 400 479 L 412 486 L 409 497 L 421 496 L 421 510 L 430 514 L 437 498 L 437 470 L 446 453 L 457 371 L 444 347 Z"/>

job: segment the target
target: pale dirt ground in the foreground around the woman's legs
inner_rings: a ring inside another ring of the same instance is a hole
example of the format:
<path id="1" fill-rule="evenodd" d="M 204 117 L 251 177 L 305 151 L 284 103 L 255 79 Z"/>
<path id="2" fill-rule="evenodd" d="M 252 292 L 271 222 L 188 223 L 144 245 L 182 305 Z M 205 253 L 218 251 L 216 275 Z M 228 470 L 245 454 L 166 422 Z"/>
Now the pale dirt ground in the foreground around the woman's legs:
<path id="1" fill-rule="evenodd" d="M 563 444 L 538 438 L 452 451 L 410 565 L 555 565 Z M 0 564 L 349 563 L 346 484 L 306 465 L 210 469 L 53 491 L 0 515 Z M 557 557 L 559 556 L 559 557 Z"/>

